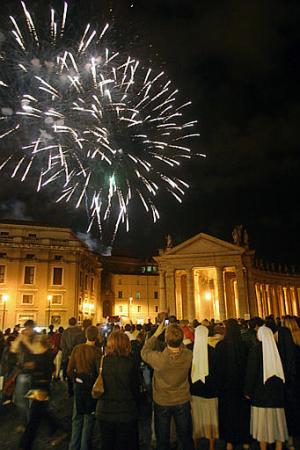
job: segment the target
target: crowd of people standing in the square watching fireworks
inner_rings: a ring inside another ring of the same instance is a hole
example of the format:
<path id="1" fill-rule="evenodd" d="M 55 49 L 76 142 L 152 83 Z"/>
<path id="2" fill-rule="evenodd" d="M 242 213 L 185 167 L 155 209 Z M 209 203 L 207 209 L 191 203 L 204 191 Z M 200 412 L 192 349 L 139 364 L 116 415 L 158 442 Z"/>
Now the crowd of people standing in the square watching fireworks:
<path id="1" fill-rule="evenodd" d="M 0 332 L 1 407 L 19 414 L 20 449 L 45 421 L 52 445 L 89 450 L 95 424 L 101 450 L 194 450 L 207 439 L 226 449 L 295 448 L 300 436 L 300 319 L 178 321 L 37 332 L 28 320 Z M 73 400 L 72 430 L 49 407 L 52 383 Z M 153 431 L 152 431 L 153 430 Z M 69 440 L 67 441 L 67 438 Z"/>

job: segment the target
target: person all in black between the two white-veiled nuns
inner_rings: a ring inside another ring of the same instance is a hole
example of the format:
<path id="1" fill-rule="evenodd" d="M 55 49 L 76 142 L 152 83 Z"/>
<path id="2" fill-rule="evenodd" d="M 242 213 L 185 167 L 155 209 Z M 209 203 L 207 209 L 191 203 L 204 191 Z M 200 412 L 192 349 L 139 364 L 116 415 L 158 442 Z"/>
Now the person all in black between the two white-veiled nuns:
<path id="1" fill-rule="evenodd" d="M 250 404 L 244 397 L 246 354 L 238 322 L 229 319 L 224 339 L 216 346 L 219 434 L 228 450 L 250 439 Z"/>

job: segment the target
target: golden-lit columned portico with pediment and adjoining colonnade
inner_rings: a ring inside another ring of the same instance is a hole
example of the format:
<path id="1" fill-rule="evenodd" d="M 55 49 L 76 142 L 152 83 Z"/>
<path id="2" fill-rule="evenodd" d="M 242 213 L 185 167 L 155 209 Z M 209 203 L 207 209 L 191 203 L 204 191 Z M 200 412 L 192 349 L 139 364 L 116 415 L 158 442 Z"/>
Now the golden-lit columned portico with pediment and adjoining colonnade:
<path id="1" fill-rule="evenodd" d="M 255 252 L 200 233 L 154 259 L 159 310 L 179 319 L 300 314 L 300 275 L 255 267 Z"/>

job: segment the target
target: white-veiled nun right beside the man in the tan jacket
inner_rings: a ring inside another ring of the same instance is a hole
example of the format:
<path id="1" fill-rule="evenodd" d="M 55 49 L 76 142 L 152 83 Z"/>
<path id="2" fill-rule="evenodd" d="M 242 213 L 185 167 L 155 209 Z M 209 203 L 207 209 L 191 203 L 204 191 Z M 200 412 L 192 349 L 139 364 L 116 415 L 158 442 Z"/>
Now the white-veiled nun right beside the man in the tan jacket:
<path id="1" fill-rule="evenodd" d="M 191 370 L 191 407 L 193 438 L 209 440 L 209 449 L 214 450 L 219 437 L 218 398 L 215 349 L 208 345 L 208 328 L 199 325 L 195 330 L 193 361 Z"/>

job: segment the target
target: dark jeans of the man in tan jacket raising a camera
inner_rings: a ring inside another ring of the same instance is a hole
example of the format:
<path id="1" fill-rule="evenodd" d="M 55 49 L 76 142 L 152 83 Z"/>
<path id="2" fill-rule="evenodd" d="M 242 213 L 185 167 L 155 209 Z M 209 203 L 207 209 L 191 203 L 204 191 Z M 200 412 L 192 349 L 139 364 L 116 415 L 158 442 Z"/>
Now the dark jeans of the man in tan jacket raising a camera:
<path id="1" fill-rule="evenodd" d="M 172 417 L 175 420 L 176 433 L 182 448 L 184 450 L 194 450 L 190 402 L 172 406 L 161 406 L 154 403 L 154 427 L 157 450 L 169 449 Z"/>

